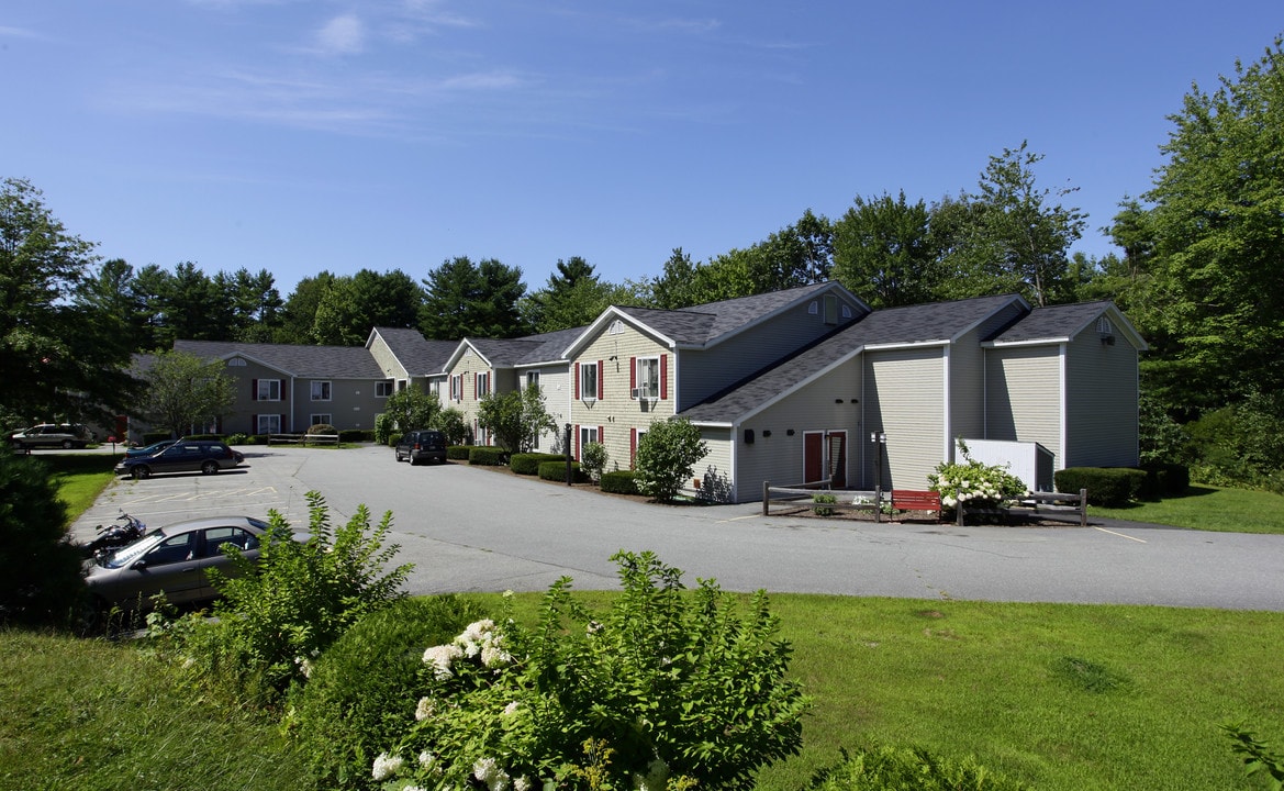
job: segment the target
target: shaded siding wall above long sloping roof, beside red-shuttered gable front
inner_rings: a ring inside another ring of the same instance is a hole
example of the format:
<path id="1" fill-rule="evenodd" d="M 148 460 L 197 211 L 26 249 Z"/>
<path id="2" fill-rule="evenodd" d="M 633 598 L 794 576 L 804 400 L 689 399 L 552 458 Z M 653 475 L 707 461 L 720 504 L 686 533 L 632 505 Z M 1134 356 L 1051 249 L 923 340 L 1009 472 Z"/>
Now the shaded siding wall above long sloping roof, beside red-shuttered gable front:
<path id="1" fill-rule="evenodd" d="M 819 297 L 817 302 L 819 302 Z M 844 306 L 851 318 L 842 316 Z M 823 309 L 809 312 L 810 303 L 796 306 L 765 324 L 756 325 L 728 338 L 710 349 L 682 351 L 682 390 L 678 393 L 681 410 L 695 406 L 727 385 L 740 381 L 765 366 L 794 354 L 801 347 L 850 324 L 860 316 L 854 303 L 838 300 L 838 324 L 824 324 Z"/>

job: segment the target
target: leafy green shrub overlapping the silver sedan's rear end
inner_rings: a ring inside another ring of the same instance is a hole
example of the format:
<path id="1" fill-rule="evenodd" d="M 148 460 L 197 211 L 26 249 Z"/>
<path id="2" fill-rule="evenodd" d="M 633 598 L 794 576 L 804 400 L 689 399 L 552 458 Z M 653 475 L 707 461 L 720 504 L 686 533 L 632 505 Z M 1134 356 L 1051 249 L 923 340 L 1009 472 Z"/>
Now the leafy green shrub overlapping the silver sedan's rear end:
<path id="1" fill-rule="evenodd" d="M 335 530 L 321 494 L 307 498 L 306 542 L 291 541 L 289 523 L 272 510 L 272 539 L 263 542 L 258 561 L 232 550 L 239 575 L 209 573 L 222 595 L 217 619 L 189 624 L 180 650 L 211 687 L 271 701 L 291 682 L 302 683 L 311 663 L 348 627 L 403 596 L 411 566 L 384 570 L 399 548 L 383 546 L 392 512 L 371 530 L 370 511 L 361 505 Z"/>

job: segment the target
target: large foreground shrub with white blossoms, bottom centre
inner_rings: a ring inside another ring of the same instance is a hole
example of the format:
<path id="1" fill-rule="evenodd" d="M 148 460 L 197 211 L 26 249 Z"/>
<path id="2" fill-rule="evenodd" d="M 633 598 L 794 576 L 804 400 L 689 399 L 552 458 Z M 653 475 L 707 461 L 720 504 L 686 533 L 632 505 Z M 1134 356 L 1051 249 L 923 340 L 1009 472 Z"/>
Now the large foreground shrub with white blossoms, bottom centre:
<path id="1" fill-rule="evenodd" d="M 375 759 L 385 788 L 738 788 L 797 752 L 809 702 L 785 678 L 767 596 L 736 616 L 710 580 L 686 591 L 650 552 L 620 552 L 623 593 L 593 614 L 570 580 L 535 628 L 471 624 L 424 652 L 408 734 Z"/>

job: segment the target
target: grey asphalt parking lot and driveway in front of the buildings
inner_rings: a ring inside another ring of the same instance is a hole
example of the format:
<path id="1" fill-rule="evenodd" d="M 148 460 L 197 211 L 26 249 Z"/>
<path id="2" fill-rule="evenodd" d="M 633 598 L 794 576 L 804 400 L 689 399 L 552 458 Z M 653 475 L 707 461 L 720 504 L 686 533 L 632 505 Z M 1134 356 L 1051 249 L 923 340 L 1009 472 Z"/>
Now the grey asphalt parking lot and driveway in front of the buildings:
<path id="1" fill-rule="evenodd" d="M 869 524 L 759 515 L 758 503 L 659 506 L 466 464 L 398 464 L 389 448 L 240 447 L 217 475 L 113 483 L 74 525 L 92 535 L 123 510 L 149 524 L 211 514 L 331 523 L 365 503 L 393 514 L 411 593 L 542 591 L 562 575 L 615 587 L 610 556 L 652 550 L 731 591 L 913 598 L 1120 602 L 1284 611 L 1284 537 L 1149 525 L 1008 528 Z"/>

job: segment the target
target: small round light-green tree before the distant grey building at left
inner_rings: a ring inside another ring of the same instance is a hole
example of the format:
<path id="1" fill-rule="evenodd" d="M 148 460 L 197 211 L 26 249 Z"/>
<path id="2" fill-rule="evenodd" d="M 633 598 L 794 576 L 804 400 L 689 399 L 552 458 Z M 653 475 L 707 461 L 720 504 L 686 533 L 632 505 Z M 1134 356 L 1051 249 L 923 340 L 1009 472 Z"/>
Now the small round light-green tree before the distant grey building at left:
<path id="1" fill-rule="evenodd" d="M 144 371 L 144 412 L 153 425 L 175 437 L 223 417 L 236 402 L 235 383 L 221 361 L 207 362 L 186 352 L 157 353 Z"/>

